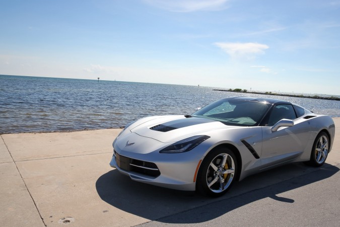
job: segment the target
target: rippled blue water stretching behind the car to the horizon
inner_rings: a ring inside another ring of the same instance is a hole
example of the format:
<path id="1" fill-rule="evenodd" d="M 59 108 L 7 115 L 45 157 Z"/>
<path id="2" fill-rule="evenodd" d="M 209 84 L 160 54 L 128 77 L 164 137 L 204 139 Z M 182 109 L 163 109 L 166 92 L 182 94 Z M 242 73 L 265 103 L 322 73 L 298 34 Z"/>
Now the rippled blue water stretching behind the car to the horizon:
<path id="1" fill-rule="evenodd" d="M 230 96 L 277 98 L 340 117 L 340 101 L 213 89 L 218 88 L 0 75 L 0 134 L 120 128 L 147 116 L 190 114 Z"/>

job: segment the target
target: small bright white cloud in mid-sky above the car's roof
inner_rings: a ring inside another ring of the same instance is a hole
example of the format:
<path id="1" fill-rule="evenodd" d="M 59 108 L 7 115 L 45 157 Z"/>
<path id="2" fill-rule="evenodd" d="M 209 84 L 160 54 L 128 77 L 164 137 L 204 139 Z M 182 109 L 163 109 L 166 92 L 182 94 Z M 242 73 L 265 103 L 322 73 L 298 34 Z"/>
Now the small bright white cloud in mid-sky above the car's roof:
<path id="1" fill-rule="evenodd" d="M 254 42 L 216 42 L 216 46 L 223 49 L 232 57 L 246 57 L 253 58 L 255 54 L 264 53 L 264 49 L 268 49 L 269 46 Z"/>

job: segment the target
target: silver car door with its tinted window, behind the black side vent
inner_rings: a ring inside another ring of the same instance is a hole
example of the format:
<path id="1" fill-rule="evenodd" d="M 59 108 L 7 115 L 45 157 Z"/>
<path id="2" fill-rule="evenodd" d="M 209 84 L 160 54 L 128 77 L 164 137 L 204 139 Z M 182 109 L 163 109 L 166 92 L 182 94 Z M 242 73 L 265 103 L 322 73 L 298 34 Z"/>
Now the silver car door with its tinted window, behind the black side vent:
<path id="1" fill-rule="evenodd" d="M 261 165 L 267 168 L 298 157 L 308 141 L 307 121 L 294 121 L 294 126 L 281 127 L 272 131 L 282 119 L 294 120 L 296 113 L 291 104 L 278 104 L 269 113 L 266 126 L 262 127 Z"/>

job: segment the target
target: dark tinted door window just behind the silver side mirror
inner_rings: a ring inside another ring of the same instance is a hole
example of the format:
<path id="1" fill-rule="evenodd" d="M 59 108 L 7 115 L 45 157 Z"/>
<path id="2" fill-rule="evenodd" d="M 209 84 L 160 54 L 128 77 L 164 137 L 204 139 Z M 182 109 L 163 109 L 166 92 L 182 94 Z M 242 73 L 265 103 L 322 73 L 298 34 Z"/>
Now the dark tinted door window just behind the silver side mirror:
<path id="1" fill-rule="evenodd" d="M 281 104 L 276 105 L 270 112 L 267 126 L 273 126 L 281 119 L 296 119 L 295 111 L 292 105 Z"/>

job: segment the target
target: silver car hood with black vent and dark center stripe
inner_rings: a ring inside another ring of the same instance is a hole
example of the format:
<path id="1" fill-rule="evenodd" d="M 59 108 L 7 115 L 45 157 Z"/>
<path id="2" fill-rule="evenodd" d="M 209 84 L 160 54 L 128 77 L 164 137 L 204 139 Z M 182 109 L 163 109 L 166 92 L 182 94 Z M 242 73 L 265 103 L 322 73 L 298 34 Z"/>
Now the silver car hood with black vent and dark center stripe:
<path id="1" fill-rule="evenodd" d="M 130 128 L 132 133 L 152 138 L 163 143 L 177 142 L 193 135 L 222 128 L 234 128 L 225 124 L 205 118 L 185 118 L 179 116 L 162 116 L 148 118 L 136 122 Z"/>

